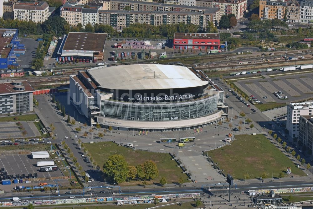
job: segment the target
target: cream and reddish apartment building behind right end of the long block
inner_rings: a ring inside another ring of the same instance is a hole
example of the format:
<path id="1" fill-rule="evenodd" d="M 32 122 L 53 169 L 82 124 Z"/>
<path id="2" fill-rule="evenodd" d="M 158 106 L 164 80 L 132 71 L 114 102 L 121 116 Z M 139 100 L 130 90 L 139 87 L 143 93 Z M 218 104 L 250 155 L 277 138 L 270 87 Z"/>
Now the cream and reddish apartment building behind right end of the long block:
<path id="1" fill-rule="evenodd" d="M 212 7 L 220 8 L 221 15 L 234 14 L 236 19 L 240 19 L 247 10 L 247 0 L 213 0 Z"/>

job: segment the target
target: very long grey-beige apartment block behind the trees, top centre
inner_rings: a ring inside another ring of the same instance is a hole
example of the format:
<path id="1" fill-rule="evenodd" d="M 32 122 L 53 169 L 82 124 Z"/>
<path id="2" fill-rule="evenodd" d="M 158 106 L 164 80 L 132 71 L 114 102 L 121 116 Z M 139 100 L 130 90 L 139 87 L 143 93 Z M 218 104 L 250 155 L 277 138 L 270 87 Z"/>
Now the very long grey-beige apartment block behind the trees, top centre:
<path id="1" fill-rule="evenodd" d="M 219 21 L 218 8 L 206 8 L 203 12 L 182 12 L 182 11 L 112 11 L 99 10 L 99 24 L 110 24 L 113 27 L 122 29 L 135 23 L 145 23 L 154 26 L 162 24 L 196 24 L 206 27 L 208 22 Z"/>

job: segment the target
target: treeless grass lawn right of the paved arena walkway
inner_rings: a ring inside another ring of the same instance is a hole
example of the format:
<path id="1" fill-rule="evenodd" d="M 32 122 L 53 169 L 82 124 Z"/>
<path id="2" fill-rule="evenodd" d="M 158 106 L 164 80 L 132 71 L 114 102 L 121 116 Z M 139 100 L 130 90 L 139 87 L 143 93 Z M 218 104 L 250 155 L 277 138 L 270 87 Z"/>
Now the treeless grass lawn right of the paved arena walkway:
<path id="1" fill-rule="evenodd" d="M 279 172 L 286 172 L 291 167 L 294 176 L 305 176 L 304 172 L 278 150 L 264 135 L 236 135 L 237 140 L 231 145 L 208 152 L 220 169 L 232 174 L 236 179 L 244 179 L 244 173 L 250 179 L 260 178 L 263 172 L 268 177 L 278 178 Z"/>

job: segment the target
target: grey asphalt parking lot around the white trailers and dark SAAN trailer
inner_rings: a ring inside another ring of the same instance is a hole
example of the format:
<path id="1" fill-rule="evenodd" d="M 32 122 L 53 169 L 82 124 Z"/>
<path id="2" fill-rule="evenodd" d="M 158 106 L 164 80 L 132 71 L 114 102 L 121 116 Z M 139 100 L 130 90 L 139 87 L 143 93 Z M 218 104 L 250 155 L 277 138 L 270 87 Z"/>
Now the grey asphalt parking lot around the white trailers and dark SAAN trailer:
<path id="1" fill-rule="evenodd" d="M 13 154 L 13 155 L 0 155 L 0 168 L 4 168 L 8 175 L 16 174 L 20 176 L 25 174 L 38 174 L 38 178 L 49 178 L 56 176 L 63 176 L 61 171 L 58 169 L 53 172 L 40 172 L 40 167 L 37 167 L 37 161 L 51 161 L 52 159 L 32 159 L 31 155 L 26 154 Z"/>

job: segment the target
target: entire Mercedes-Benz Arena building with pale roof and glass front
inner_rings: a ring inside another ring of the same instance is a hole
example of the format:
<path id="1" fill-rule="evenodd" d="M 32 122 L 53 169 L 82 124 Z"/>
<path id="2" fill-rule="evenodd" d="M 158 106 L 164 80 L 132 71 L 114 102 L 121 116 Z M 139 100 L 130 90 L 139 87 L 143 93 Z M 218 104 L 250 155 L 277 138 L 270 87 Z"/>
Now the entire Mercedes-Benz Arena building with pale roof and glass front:
<path id="1" fill-rule="evenodd" d="M 70 76 L 70 100 L 91 124 L 120 130 L 175 131 L 227 117 L 224 92 L 187 67 L 94 67 Z"/>

